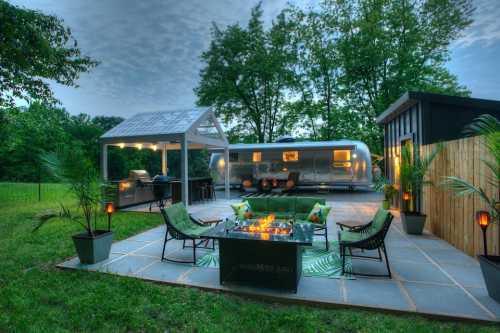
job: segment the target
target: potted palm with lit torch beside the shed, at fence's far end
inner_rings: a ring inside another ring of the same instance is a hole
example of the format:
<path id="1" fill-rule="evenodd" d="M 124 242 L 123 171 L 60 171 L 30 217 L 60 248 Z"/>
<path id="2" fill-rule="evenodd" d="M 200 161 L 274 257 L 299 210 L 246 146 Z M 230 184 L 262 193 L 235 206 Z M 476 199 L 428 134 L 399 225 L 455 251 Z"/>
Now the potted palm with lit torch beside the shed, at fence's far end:
<path id="1" fill-rule="evenodd" d="M 401 203 L 401 223 L 408 234 L 421 235 L 424 230 L 427 216 L 420 211 L 417 198 L 425 185 L 432 185 L 430 181 L 425 179 L 425 174 L 441 148 L 442 145 L 439 144 L 426 157 L 421 157 L 418 154 L 417 146 L 404 145 L 401 148 L 400 186 L 401 198 L 403 199 Z"/>

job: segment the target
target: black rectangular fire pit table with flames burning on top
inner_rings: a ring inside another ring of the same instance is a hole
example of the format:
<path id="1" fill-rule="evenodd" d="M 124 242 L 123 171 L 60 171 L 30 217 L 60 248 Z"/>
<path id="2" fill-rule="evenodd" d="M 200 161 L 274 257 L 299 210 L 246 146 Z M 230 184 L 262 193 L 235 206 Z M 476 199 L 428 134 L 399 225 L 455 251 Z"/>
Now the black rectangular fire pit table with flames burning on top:
<path id="1" fill-rule="evenodd" d="M 308 223 L 266 219 L 226 220 L 201 235 L 219 242 L 220 284 L 297 292 L 303 246 L 312 245 L 314 228 Z"/>

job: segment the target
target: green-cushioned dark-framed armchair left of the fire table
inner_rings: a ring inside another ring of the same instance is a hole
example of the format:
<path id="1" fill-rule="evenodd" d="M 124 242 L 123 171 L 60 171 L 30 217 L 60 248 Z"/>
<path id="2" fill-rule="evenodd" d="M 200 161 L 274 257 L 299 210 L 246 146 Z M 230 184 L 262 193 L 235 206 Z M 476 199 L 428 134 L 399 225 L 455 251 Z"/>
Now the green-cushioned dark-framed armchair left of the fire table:
<path id="1" fill-rule="evenodd" d="M 161 208 L 161 215 L 167 226 L 165 232 L 165 240 L 163 242 L 163 252 L 161 255 L 161 260 L 178 262 L 178 263 L 192 263 L 196 264 L 196 249 L 197 248 L 211 248 L 214 249 L 214 243 L 212 241 L 212 246 L 208 246 L 208 241 L 206 239 L 201 239 L 200 235 L 206 232 L 211 227 L 204 226 L 194 217 L 188 214 L 186 207 L 183 203 L 176 203 L 168 208 Z M 170 238 L 168 235 L 170 234 Z M 165 258 L 165 247 L 167 242 L 170 240 L 182 240 L 182 248 L 193 248 L 193 260 L 177 260 Z M 192 242 L 192 246 L 186 245 L 186 240 Z M 203 245 L 202 245 L 203 244 Z"/>

